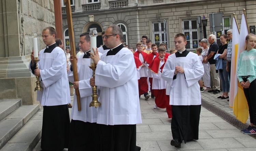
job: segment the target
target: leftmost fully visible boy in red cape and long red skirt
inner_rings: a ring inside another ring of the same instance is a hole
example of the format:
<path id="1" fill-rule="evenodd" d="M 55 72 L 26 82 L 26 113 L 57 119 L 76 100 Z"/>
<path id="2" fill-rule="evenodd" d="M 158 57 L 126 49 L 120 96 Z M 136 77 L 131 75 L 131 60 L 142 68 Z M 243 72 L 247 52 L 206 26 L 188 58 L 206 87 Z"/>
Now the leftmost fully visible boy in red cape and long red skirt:
<path id="1" fill-rule="evenodd" d="M 134 56 L 138 57 L 141 63 L 143 64 L 141 69 L 139 70 L 139 74 L 140 74 L 139 97 L 140 95 L 144 95 L 145 100 L 147 100 L 149 98 L 149 95 L 147 93 L 148 92 L 148 83 L 147 83 L 148 72 L 147 72 L 147 67 L 145 66 L 144 63 L 146 61 L 148 54 L 142 51 L 143 46 L 141 42 L 137 42 L 136 46 L 138 51 L 134 53 Z"/>

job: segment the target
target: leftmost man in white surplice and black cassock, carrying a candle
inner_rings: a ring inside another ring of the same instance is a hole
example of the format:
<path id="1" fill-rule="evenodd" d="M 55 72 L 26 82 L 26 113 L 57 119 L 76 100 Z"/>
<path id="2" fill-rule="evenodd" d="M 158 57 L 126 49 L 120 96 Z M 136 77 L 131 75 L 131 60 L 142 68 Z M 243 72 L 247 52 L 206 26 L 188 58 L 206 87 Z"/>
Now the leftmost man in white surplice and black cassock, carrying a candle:
<path id="1" fill-rule="evenodd" d="M 42 91 L 37 91 L 37 100 L 43 106 L 41 148 L 63 150 L 68 148 L 69 81 L 67 60 L 64 51 L 55 42 L 56 30 L 46 27 L 42 32 L 46 48 L 39 52 L 38 69 L 35 69 L 34 52 L 31 53 L 30 72 L 40 76 Z"/>

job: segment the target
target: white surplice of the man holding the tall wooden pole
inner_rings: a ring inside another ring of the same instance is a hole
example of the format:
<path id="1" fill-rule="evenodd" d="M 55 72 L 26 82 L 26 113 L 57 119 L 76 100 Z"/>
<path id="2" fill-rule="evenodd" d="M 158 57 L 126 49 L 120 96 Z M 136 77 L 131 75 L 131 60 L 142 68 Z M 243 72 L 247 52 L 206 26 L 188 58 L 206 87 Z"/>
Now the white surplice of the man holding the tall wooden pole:
<path id="1" fill-rule="evenodd" d="M 99 53 L 99 55 L 101 55 L 101 53 Z M 84 54 L 79 56 L 77 60 L 81 111 L 78 111 L 77 98 L 75 94 L 71 111 L 71 119 L 92 123 L 97 122 L 98 116 L 98 108 L 96 109 L 95 107 L 89 107 L 89 104 L 92 101 L 92 88 L 90 86 L 90 78 L 93 76 L 93 70 L 89 68 L 91 65 L 91 59 L 83 58 L 83 56 Z M 68 75 L 69 81 L 74 82 L 73 72 L 69 71 Z"/>

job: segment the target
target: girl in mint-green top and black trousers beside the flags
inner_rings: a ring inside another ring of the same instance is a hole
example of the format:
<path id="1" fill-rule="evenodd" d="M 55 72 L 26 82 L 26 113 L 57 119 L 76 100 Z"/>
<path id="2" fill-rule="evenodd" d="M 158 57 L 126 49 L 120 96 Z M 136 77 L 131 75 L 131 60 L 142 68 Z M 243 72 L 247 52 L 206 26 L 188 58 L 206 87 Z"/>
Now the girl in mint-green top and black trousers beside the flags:
<path id="1" fill-rule="evenodd" d="M 237 67 L 237 77 L 243 87 L 246 97 L 251 125 L 242 129 L 244 134 L 256 134 L 256 35 L 249 34 L 245 38 L 247 49 L 240 55 Z"/>

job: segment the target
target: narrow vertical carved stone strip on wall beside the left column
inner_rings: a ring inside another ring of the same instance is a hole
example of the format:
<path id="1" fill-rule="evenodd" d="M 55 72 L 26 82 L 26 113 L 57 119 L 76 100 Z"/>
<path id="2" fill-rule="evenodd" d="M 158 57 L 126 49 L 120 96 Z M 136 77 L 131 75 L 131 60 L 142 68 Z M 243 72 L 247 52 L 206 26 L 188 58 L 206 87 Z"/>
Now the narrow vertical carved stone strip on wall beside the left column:
<path id="1" fill-rule="evenodd" d="M 19 40 L 20 40 L 20 55 L 25 56 L 25 49 L 24 49 L 24 18 L 22 12 L 22 2 L 18 0 L 18 15 L 19 15 Z"/>

